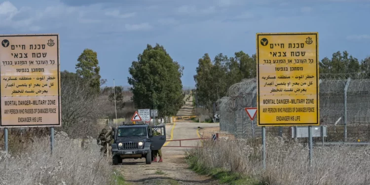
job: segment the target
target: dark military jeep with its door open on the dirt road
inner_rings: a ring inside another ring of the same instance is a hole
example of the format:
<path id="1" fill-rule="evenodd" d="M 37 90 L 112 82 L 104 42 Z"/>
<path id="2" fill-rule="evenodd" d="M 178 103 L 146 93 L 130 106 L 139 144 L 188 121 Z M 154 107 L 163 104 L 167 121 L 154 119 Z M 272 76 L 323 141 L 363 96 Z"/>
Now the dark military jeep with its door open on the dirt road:
<path id="1" fill-rule="evenodd" d="M 158 136 L 153 136 L 153 130 L 159 131 Z M 114 165 L 122 163 L 122 159 L 145 158 L 151 164 L 154 158 L 152 150 L 162 148 L 166 142 L 166 127 L 149 126 L 147 124 L 126 124 L 112 128 L 111 145 L 112 162 Z"/>

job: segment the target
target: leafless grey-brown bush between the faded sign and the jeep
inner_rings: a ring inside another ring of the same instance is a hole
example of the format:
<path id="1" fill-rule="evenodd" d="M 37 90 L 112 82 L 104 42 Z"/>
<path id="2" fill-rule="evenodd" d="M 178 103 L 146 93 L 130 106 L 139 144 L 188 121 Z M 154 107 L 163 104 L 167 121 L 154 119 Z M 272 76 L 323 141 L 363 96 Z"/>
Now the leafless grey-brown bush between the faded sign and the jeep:
<path id="1" fill-rule="evenodd" d="M 71 137 L 94 136 L 106 105 L 90 90 L 90 80 L 61 72 L 62 128 Z"/>

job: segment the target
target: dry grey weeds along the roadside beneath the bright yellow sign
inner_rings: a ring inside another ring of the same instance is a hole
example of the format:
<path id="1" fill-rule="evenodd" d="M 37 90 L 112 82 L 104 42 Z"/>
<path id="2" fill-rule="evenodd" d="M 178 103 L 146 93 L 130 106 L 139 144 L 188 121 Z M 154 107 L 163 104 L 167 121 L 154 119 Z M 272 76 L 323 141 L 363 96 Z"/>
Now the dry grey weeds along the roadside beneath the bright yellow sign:
<path id="1" fill-rule="evenodd" d="M 370 147 L 315 147 L 314 165 L 309 168 L 307 146 L 281 138 L 268 138 L 266 143 L 266 172 L 256 141 L 209 141 L 189 154 L 202 166 L 242 173 L 268 185 L 370 184 Z"/>

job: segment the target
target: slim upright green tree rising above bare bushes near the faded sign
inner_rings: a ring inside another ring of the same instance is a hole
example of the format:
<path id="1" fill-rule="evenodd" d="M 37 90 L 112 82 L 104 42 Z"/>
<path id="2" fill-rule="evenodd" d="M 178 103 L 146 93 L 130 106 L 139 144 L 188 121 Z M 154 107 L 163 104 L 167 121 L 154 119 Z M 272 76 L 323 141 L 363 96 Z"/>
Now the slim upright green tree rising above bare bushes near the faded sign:
<path id="1" fill-rule="evenodd" d="M 90 80 L 91 89 L 99 93 L 101 79 L 97 53 L 91 49 L 84 49 L 77 61 L 76 74 Z M 102 80 L 102 82 L 106 81 Z"/>

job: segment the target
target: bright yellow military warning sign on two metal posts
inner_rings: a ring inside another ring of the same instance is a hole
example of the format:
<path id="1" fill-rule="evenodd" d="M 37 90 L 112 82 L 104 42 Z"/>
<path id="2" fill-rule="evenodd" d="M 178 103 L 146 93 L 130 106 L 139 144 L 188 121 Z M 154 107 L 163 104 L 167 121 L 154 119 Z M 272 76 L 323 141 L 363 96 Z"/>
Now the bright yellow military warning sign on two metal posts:
<path id="1" fill-rule="evenodd" d="M 262 145 L 265 126 L 308 126 L 310 165 L 311 127 L 320 125 L 318 39 L 316 32 L 256 35 L 257 125 L 262 127 Z"/>

